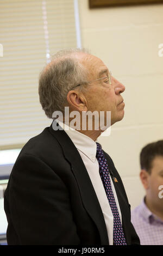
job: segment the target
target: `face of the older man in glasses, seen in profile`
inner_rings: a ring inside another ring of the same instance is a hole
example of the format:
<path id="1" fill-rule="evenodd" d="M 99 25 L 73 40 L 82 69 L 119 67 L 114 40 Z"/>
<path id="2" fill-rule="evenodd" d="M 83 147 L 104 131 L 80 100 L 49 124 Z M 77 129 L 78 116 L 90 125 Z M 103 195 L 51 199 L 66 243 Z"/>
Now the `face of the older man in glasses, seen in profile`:
<path id="1" fill-rule="evenodd" d="M 88 81 L 108 76 L 108 68 L 101 59 L 95 56 L 83 58 L 82 63 L 89 70 Z M 85 93 L 88 111 L 111 111 L 111 125 L 122 120 L 124 116 L 124 102 L 121 93 L 125 87 L 112 77 L 111 85 L 108 78 L 89 83 Z"/>

